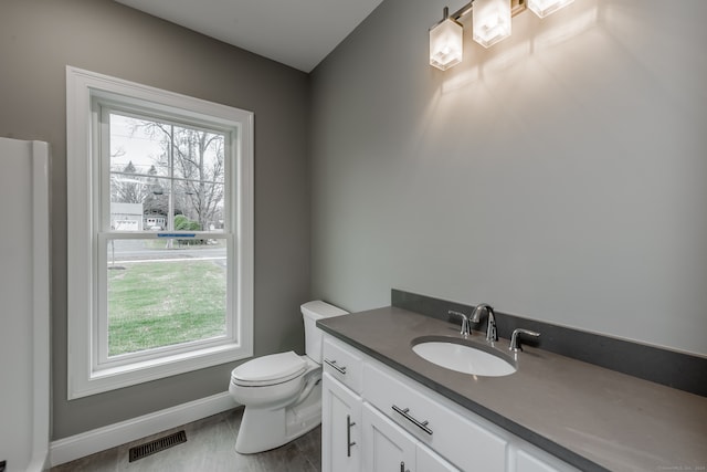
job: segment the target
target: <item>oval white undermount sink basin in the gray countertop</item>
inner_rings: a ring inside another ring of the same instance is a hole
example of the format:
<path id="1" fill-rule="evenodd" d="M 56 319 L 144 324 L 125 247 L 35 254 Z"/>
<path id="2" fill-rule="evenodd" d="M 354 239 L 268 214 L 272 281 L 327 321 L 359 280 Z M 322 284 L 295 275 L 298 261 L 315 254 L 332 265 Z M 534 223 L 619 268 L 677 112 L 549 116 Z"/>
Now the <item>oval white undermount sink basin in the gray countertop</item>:
<path id="1" fill-rule="evenodd" d="M 517 370 L 515 363 L 490 346 L 467 339 L 424 336 L 412 342 L 412 350 L 445 369 L 484 377 L 503 377 Z"/>

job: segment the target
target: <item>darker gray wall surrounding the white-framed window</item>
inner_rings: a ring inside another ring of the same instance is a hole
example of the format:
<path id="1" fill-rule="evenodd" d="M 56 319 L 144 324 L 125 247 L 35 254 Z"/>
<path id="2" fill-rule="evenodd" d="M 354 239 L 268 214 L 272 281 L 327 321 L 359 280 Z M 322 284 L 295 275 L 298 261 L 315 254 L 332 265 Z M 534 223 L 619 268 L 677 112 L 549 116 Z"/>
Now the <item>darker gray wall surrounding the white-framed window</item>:
<path id="1" fill-rule="evenodd" d="M 303 350 L 309 294 L 306 74 L 107 0 L 2 0 L 0 136 L 53 157 L 53 439 L 222 392 L 233 368 L 66 401 L 66 64 L 254 112 L 256 355 Z"/>

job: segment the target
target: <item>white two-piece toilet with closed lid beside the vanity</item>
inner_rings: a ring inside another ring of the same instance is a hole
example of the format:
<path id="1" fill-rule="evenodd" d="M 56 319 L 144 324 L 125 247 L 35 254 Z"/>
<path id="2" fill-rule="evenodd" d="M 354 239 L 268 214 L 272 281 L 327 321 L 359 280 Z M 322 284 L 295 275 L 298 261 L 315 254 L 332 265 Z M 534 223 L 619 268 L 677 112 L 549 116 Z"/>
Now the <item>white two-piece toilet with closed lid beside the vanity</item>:
<path id="1" fill-rule="evenodd" d="M 321 338 L 317 319 L 346 315 L 321 301 L 300 307 L 305 355 L 293 350 L 249 360 L 231 371 L 229 392 L 245 406 L 235 450 L 267 451 L 299 438 L 321 422 Z"/>

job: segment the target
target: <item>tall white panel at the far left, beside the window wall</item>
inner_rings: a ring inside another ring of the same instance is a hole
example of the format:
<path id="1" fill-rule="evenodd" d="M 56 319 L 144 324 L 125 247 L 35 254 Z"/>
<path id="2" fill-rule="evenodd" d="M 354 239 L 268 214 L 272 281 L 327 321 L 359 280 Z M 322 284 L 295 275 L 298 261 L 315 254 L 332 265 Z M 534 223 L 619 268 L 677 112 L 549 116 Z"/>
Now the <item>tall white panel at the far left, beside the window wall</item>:
<path id="1" fill-rule="evenodd" d="M 50 437 L 49 145 L 0 137 L 0 469 L 41 471 Z"/>

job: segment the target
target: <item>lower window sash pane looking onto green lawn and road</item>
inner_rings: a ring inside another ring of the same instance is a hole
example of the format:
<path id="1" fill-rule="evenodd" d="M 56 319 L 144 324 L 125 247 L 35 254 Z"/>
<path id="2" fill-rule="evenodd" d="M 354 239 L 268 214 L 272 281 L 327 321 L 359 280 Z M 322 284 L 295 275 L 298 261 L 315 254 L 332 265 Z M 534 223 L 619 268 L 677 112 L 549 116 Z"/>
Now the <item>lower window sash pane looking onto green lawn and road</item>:
<path id="1" fill-rule="evenodd" d="M 108 356 L 225 336 L 224 239 L 108 242 Z"/>

